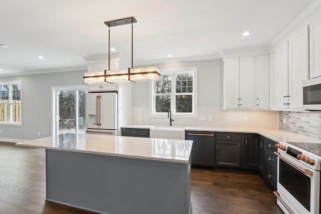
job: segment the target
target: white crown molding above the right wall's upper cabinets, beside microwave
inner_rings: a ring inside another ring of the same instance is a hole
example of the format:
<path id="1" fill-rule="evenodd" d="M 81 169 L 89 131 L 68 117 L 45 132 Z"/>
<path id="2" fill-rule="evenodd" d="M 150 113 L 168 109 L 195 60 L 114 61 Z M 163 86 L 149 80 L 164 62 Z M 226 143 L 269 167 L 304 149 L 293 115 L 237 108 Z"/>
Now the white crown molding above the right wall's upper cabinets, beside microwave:
<path id="1" fill-rule="evenodd" d="M 280 34 L 278 34 L 269 44 L 268 48 L 272 49 L 281 41 L 284 41 L 288 35 L 293 33 L 303 24 L 308 25 L 308 19 L 321 9 L 321 0 L 315 0 L 311 3 L 298 17 L 296 17 Z"/>

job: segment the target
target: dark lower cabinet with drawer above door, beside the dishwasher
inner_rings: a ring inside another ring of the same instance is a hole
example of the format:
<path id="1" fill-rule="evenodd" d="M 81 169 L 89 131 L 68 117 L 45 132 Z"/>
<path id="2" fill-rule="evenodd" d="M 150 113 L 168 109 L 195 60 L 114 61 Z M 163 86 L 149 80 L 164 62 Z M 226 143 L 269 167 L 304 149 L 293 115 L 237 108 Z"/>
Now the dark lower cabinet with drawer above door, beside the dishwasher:
<path id="1" fill-rule="evenodd" d="M 241 167 L 241 133 L 216 133 L 216 166 Z"/>

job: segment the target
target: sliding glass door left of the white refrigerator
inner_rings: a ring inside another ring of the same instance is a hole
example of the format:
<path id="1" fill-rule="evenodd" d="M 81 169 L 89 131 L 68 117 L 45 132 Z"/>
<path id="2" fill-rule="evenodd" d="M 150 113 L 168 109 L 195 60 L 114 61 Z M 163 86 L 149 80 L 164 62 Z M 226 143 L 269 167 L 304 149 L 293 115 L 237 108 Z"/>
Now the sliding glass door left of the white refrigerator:
<path id="1" fill-rule="evenodd" d="M 53 90 L 53 135 L 85 133 L 86 93 L 87 88 Z"/>

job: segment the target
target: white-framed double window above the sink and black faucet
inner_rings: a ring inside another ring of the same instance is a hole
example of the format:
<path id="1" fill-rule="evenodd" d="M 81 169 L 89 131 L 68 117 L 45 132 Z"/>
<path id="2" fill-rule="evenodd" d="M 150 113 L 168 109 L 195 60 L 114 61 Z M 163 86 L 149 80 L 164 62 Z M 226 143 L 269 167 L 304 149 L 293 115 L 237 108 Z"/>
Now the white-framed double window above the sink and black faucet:
<path id="1" fill-rule="evenodd" d="M 197 68 L 161 71 L 161 79 L 153 81 L 152 114 L 196 116 Z"/>

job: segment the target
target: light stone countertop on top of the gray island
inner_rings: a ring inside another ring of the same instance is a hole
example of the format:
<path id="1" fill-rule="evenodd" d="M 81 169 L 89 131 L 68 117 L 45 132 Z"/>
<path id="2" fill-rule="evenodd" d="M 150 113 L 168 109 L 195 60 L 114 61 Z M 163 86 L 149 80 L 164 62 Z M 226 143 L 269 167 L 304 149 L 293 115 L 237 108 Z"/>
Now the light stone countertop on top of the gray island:
<path id="1" fill-rule="evenodd" d="M 75 151 L 129 158 L 189 163 L 192 140 L 62 134 L 17 143 L 17 146 Z"/>

